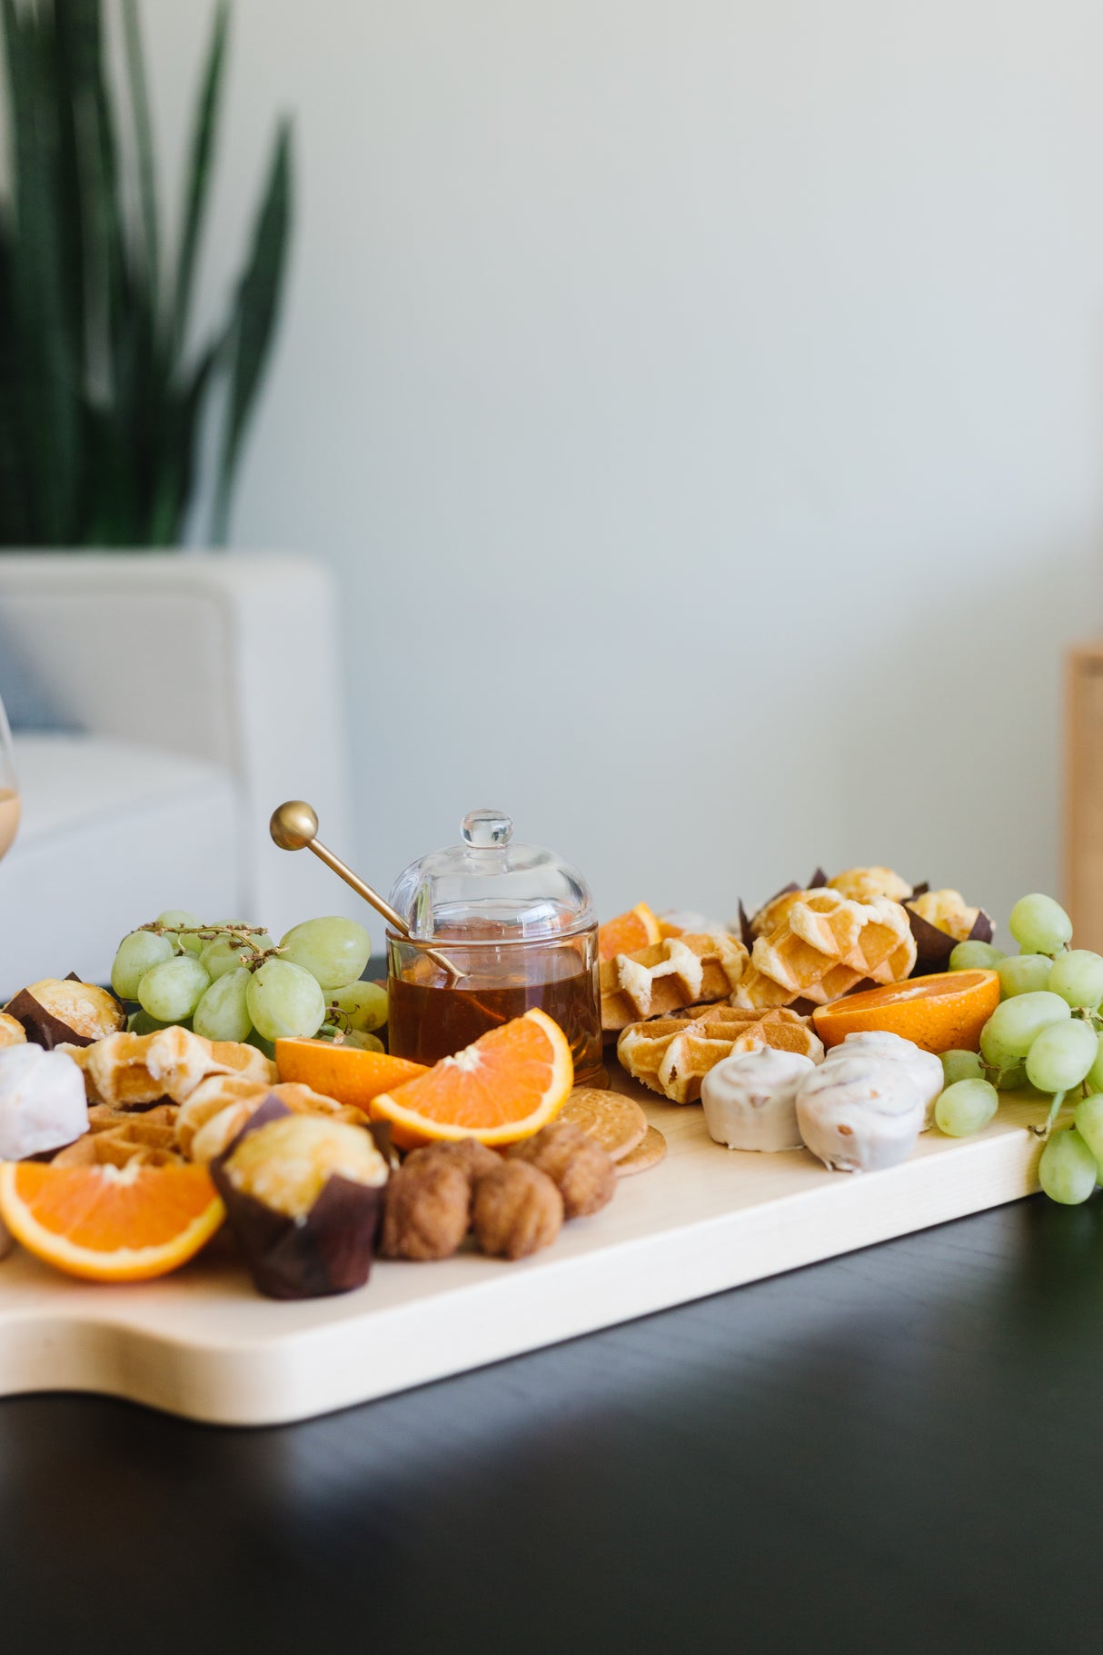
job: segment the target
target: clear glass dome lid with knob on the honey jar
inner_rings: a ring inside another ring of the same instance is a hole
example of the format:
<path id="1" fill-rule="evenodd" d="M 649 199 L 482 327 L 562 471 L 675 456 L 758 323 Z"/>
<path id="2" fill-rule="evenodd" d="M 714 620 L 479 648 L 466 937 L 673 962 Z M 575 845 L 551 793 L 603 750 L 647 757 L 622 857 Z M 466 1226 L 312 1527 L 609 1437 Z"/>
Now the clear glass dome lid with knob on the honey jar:
<path id="1" fill-rule="evenodd" d="M 394 884 L 390 905 L 412 937 L 534 942 L 595 923 L 579 871 L 554 851 L 516 844 L 504 811 L 470 811 L 460 831 L 461 844 L 418 857 Z"/>

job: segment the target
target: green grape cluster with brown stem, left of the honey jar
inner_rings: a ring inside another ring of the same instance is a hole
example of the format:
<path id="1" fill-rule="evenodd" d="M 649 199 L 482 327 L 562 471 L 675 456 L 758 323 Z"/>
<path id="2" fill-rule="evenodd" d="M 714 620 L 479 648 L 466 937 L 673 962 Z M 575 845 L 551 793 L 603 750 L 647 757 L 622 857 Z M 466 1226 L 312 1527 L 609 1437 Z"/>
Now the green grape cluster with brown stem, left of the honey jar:
<path id="1" fill-rule="evenodd" d="M 382 1051 L 374 1029 L 387 1021 L 387 991 L 359 980 L 370 952 L 356 920 L 303 920 L 273 943 L 263 925 L 205 925 L 167 909 L 122 938 L 111 986 L 137 1001 L 131 1028 L 139 1034 L 182 1023 L 270 1054 L 283 1036 L 314 1034 Z"/>

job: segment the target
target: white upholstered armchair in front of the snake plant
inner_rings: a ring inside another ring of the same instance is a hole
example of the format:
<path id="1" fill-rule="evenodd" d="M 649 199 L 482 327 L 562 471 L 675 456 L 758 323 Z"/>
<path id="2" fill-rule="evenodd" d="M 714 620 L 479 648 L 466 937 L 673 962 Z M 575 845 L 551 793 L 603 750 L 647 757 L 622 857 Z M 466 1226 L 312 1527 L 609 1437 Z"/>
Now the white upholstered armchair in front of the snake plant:
<path id="1" fill-rule="evenodd" d="M 0 693 L 23 821 L 0 861 L 0 995 L 106 980 L 165 907 L 279 933 L 357 899 L 268 816 L 349 846 L 332 583 L 268 554 L 0 554 Z"/>

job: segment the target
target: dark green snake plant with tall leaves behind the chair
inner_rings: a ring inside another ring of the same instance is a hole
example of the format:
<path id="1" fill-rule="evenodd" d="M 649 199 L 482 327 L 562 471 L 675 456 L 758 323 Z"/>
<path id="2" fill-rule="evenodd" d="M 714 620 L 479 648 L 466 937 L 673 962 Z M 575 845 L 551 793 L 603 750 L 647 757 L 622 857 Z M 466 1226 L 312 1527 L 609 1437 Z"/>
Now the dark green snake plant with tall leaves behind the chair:
<path id="1" fill-rule="evenodd" d="M 159 245 L 137 0 L 122 0 L 136 180 L 119 162 L 101 0 L 0 0 L 12 200 L 0 204 L 0 548 L 174 546 L 203 422 L 225 401 L 215 536 L 279 314 L 291 227 L 281 122 L 223 324 L 189 348 L 189 313 L 227 61 L 215 13 L 195 108 L 175 268 Z M 127 213 L 124 200 L 136 200 Z M 215 397 L 222 389 L 223 397 Z"/>

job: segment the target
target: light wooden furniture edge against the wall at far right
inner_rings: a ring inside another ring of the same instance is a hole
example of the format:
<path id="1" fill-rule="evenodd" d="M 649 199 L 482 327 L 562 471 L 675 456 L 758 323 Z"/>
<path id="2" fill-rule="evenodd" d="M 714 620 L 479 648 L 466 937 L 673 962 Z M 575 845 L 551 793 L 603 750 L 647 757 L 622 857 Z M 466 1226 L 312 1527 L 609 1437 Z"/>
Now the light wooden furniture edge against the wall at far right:
<path id="1" fill-rule="evenodd" d="M 1077 943 L 1103 952 L 1103 642 L 1068 655 L 1065 905 Z"/>

